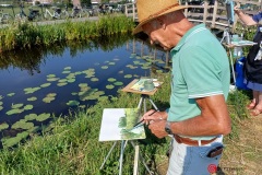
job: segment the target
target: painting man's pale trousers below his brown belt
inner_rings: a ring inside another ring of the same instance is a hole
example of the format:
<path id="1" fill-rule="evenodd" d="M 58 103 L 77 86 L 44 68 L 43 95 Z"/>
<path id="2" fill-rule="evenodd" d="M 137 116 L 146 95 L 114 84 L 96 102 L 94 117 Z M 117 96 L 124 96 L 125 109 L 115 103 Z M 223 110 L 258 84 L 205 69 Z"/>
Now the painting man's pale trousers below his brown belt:
<path id="1" fill-rule="evenodd" d="M 207 158 L 207 154 L 217 147 L 223 147 L 223 136 L 200 147 L 178 143 L 172 139 L 167 175 L 210 175 L 215 173 L 222 154 L 214 158 Z"/>

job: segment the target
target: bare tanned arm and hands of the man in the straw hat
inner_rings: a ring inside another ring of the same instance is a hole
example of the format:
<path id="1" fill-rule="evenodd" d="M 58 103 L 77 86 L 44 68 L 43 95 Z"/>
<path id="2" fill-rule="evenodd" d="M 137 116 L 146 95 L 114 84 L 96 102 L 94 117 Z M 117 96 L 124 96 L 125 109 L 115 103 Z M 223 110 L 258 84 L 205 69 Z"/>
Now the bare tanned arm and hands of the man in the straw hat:
<path id="1" fill-rule="evenodd" d="M 170 128 L 174 133 L 200 137 L 227 135 L 230 132 L 230 117 L 224 95 L 198 98 L 196 103 L 201 108 L 201 114 L 183 121 L 170 122 Z M 166 120 L 157 119 L 160 118 L 158 113 L 152 116 L 145 114 L 143 118 L 150 124 L 148 128 L 156 137 L 163 138 L 167 136 L 165 132 Z"/>

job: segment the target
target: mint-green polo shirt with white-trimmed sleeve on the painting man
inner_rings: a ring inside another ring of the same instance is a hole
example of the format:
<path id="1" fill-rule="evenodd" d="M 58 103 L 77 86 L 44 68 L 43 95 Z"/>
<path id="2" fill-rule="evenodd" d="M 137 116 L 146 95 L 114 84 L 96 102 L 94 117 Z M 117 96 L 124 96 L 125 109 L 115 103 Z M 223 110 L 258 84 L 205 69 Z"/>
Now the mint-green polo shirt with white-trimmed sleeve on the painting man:
<path id="1" fill-rule="evenodd" d="M 201 114 L 195 98 L 229 91 L 229 61 L 226 50 L 204 26 L 196 25 L 186 33 L 171 49 L 172 82 L 168 120 L 181 121 Z M 183 136 L 187 137 L 187 136 Z M 213 137 L 191 139 L 210 140 Z"/>

